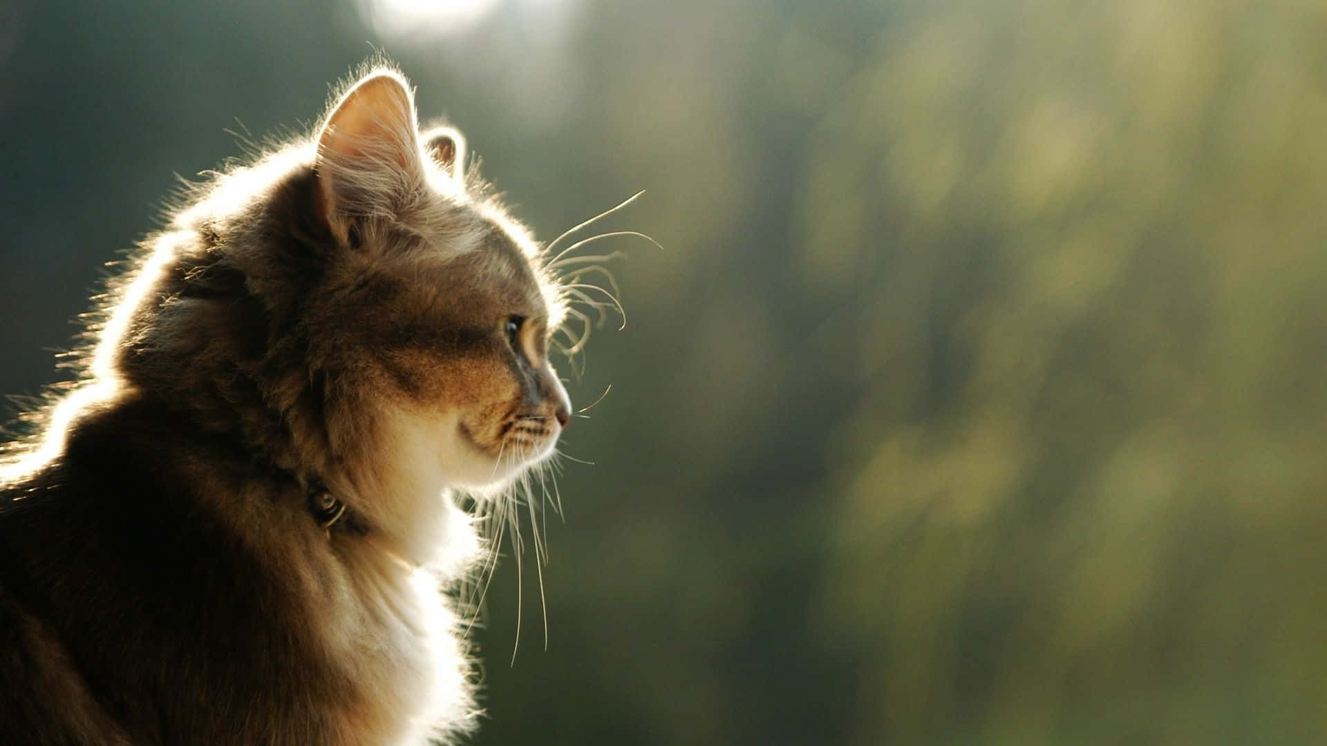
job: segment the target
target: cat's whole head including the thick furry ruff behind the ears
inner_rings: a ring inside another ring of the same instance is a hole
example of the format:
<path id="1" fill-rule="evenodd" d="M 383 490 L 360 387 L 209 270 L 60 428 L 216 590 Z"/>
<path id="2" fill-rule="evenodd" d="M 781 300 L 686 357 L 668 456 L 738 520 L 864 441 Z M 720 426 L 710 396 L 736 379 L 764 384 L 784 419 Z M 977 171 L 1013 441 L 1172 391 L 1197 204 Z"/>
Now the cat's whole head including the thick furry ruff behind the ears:
<path id="1" fill-rule="evenodd" d="M 142 299 L 111 319 L 114 368 L 346 491 L 512 478 L 568 423 L 549 361 L 565 312 L 540 247 L 463 162 L 455 130 L 421 133 L 398 73 L 358 78 L 312 139 L 174 216 Z"/>

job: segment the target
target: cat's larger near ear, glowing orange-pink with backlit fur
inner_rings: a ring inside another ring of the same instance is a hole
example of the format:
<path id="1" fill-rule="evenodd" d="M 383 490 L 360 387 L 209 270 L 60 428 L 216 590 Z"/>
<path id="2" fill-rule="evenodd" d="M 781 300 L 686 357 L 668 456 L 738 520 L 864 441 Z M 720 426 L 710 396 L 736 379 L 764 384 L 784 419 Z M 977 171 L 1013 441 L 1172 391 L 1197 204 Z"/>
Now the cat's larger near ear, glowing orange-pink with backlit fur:
<path id="1" fill-rule="evenodd" d="M 356 219 L 386 216 L 423 182 L 410 85 L 378 70 L 332 108 L 317 139 L 318 208 L 346 239 Z"/>

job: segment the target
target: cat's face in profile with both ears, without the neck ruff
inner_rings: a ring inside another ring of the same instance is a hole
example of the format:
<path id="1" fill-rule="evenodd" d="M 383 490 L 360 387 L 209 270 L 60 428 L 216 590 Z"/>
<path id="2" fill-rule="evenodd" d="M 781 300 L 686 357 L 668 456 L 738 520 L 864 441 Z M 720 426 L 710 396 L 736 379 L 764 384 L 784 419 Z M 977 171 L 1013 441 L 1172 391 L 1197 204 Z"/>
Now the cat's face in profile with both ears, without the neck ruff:
<path id="1" fill-rule="evenodd" d="M 525 228 L 470 188 L 459 133 L 421 133 L 405 80 L 378 70 L 316 149 L 313 214 L 342 255 L 320 333 L 373 361 L 394 437 L 430 443 L 460 486 L 548 455 L 571 415 L 549 361 L 559 288 Z"/>

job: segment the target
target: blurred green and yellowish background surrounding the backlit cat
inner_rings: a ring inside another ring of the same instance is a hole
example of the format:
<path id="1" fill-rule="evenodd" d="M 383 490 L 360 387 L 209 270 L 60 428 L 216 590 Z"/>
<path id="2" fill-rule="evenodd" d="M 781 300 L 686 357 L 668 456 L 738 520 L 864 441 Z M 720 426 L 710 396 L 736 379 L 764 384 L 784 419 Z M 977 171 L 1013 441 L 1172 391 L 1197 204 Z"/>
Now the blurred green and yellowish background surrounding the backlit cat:
<path id="1" fill-rule="evenodd" d="M 4 0 L 0 392 L 374 49 L 666 247 L 475 743 L 1324 742 L 1327 5 Z"/>

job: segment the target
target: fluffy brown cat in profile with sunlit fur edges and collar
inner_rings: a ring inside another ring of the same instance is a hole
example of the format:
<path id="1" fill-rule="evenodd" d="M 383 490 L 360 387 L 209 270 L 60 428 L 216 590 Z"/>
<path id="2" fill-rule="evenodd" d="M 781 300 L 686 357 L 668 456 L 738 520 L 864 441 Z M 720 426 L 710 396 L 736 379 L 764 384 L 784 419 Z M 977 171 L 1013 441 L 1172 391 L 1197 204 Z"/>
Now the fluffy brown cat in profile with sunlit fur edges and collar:
<path id="1" fill-rule="evenodd" d="M 0 471 L 0 743 L 475 726 L 456 490 L 547 459 L 571 405 L 568 288 L 464 159 L 376 65 L 143 243 Z"/>

